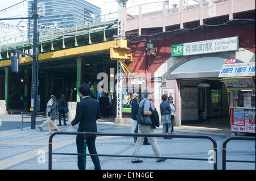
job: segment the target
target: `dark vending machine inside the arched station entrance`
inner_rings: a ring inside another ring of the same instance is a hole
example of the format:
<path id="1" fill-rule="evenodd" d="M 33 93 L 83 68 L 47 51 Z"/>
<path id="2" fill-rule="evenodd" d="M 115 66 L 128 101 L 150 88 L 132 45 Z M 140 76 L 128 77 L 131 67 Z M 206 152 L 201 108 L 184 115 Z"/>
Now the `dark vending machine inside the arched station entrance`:
<path id="1" fill-rule="evenodd" d="M 221 90 L 207 90 L 207 117 L 221 117 Z"/>

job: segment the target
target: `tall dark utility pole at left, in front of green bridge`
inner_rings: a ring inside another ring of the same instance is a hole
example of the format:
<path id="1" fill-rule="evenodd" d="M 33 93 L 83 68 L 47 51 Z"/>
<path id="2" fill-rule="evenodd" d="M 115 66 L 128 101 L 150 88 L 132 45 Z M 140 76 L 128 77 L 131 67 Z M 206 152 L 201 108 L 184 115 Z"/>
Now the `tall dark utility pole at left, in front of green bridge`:
<path id="1" fill-rule="evenodd" d="M 31 6 L 32 7 L 32 6 Z M 32 85 L 31 85 L 31 129 L 35 129 L 36 113 L 37 113 L 37 99 L 38 99 L 38 63 L 36 56 L 36 48 L 38 41 L 38 0 L 34 0 L 34 13 L 32 16 L 34 20 L 33 31 L 33 63 L 32 63 Z"/>

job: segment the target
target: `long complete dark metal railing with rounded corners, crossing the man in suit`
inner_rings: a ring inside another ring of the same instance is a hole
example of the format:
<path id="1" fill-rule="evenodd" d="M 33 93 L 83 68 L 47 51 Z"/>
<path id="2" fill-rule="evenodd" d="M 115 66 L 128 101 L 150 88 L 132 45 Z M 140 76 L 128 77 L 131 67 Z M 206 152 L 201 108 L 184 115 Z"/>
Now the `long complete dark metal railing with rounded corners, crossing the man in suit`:
<path id="1" fill-rule="evenodd" d="M 61 154 L 61 155 L 97 155 L 104 157 L 137 157 L 137 158 L 165 158 L 165 159 L 185 159 L 185 160 L 194 160 L 194 161 L 209 161 L 205 158 L 180 158 L 180 157 L 153 157 L 153 156 L 134 156 L 134 155 L 110 155 L 110 154 L 81 154 L 81 153 L 52 153 L 52 138 L 56 134 L 72 134 L 72 135 L 90 135 L 90 136 L 129 136 L 134 137 L 134 133 L 92 133 L 92 132 L 55 132 L 52 133 L 49 137 L 49 165 L 48 169 L 52 170 L 52 155 Z M 201 138 L 208 139 L 213 143 L 213 169 L 217 170 L 217 142 L 213 137 L 207 135 L 179 135 L 179 134 L 140 134 L 136 133 L 136 136 L 142 137 L 173 137 L 173 138 Z"/>

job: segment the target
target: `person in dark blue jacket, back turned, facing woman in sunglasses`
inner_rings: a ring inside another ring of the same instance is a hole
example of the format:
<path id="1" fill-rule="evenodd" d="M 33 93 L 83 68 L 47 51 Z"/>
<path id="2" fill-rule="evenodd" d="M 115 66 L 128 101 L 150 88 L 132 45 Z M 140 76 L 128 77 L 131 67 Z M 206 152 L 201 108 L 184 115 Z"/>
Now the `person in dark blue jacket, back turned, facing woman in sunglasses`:
<path id="1" fill-rule="evenodd" d="M 163 124 L 163 134 L 171 134 L 172 121 L 171 121 L 171 107 L 170 104 L 166 102 L 168 96 L 166 94 L 162 95 L 162 103 L 160 103 L 161 121 Z M 168 131 L 166 131 L 168 128 Z M 164 137 L 164 139 L 172 139 L 171 137 Z"/>

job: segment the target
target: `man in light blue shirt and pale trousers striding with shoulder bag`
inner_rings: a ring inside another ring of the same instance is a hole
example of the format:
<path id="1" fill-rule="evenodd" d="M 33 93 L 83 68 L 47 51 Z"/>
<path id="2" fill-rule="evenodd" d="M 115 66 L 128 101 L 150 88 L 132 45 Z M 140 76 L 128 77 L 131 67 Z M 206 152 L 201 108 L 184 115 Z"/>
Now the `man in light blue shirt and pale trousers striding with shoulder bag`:
<path id="1" fill-rule="evenodd" d="M 151 104 L 150 104 L 150 99 L 148 99 L 148 95 L 152 94 L 151 90 L 146 88 L 143 91 L 143 96 L 144 98 L 141 100 L 141 102 L 139 103 L 139 109 L 138 109 L 138 133 L 146 133 L 146 134 L 154 134 L 154 129 L 152 127 L 152 121 L 151 121 L 151 115 L 152 112 L 150 111 L 151 108 Z M 152 108 L 151 108 L 152 110 Z M 143 125 L 143 120 L 145 122 L 145 124 Z M 142 121 L 142 122 L 141 122 Z M 151 124 L 150 124 L 151 123 Z M 144 137 L 138 137 L 135 146 L 134 146 L 134 151 L 133 151 L 133 155 L 134 156 L 138 156 L 139 155 L 139 149 L 141 148 L 141 145 L 143 144 L 143 140 Z M 156 157 L 161 157 L 162 154 L 160 153 L 160 149 L 158 146 L 158 142 L 156 140 L 156 137 L 148 137 L 148 141 L 150 142 L 152 149 L 155 153 Z M 165 161 L 166 159 L 159 159 L 156 158 L 156 162 L 162 162 Z M 141 163 L 143 162 L 142 160 L 139 160 L 138 158 L 134 157 L 131 160 L 132 163 Z"/>

